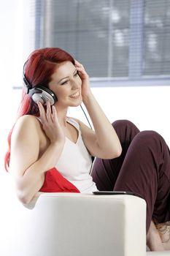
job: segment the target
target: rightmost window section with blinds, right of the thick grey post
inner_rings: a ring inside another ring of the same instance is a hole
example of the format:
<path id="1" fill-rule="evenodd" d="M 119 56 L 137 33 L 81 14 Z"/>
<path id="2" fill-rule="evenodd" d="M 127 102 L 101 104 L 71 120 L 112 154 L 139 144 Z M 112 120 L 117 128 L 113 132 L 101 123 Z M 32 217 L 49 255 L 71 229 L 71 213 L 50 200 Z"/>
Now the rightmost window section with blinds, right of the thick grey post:
<path id="1" fill-rule="evenodd" d="M 170 75 L 169 0 L 145 1 L 143 75 Z"/>

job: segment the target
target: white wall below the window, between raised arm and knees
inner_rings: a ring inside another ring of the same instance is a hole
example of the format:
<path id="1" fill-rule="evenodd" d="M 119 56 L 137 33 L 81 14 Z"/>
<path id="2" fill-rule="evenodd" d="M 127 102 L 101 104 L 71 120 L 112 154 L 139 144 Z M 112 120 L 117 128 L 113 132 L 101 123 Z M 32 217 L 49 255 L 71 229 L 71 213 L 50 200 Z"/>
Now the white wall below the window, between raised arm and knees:
<path id="1" fill-rule="evenodd" d="M 111 122 L 128 119 L 140 130 L 154 129 L 170 146 L 170 86 L 93 88 L 93 94 Z M 70 111 L 77 114 L 85 120 L 81 110 Z"/>

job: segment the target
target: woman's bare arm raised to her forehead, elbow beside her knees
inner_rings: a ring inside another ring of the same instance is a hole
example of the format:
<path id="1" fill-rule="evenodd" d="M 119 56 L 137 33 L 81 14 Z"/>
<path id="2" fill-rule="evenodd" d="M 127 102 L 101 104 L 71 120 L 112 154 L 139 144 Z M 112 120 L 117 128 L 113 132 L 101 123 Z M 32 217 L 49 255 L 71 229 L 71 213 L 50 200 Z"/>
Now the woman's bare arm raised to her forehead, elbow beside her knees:
<path id="1" fill-rule="evenodd" d="M 78 61 L 77 70 L 82 79 L 82 99 L 88 110 L 95 132 L 80 122 L 82 138 L 94 157 L 111 159 L 119 157 L 122 151 L 120 140 L 95 97 L 90 91 L 88 74 Z"/>

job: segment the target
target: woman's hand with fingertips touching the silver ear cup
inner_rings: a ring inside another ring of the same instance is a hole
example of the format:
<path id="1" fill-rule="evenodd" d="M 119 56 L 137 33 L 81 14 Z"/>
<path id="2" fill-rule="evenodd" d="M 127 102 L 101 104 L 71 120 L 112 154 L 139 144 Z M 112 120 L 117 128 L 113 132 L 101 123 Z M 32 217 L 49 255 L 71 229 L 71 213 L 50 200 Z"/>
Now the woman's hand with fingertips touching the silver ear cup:
<path id="1" fill-rule="evenodd" d="M 50 106 L 50 102 L 47 102 L 47 111 L 45 112 L 45 108 L 42 106 L 41 102 L 37 102 L 39 106 L 39 116 L 42 121 L 42 128 L 49 138 L 51 143 L 63 142 L 65 140 L 65 135 L 61 125 L 58 121 L 57 110 L 55 106 Z"/>

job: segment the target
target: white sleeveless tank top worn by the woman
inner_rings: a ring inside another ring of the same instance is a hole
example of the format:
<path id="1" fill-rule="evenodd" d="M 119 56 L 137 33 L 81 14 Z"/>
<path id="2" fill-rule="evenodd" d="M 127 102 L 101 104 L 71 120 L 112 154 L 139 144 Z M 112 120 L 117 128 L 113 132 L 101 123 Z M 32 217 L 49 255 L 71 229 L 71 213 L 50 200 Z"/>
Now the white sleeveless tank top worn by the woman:
<path id="1" fill-rule="evenodd" d="M 77 142 L 66 138 L 61 157 L 55 167 L 57 170 L 82 193 L 91 193 L 97 190 L 96 184 L 90 176 L 92 160 L 82 140 L 80 126 L 72 118 L 67 118 L 78 131 Z"/>

